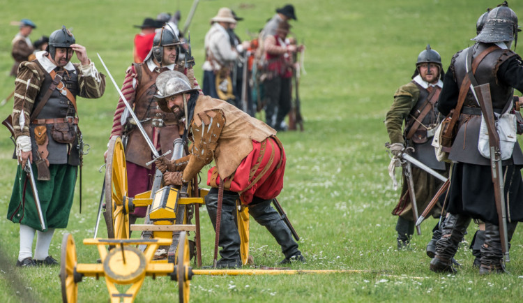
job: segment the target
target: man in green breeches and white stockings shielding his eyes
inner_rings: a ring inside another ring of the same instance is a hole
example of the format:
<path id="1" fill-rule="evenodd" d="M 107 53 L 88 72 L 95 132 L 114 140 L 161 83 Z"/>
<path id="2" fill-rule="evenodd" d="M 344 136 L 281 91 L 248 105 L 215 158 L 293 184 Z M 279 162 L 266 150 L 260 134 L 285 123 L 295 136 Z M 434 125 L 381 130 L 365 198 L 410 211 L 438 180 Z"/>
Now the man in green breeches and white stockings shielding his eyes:
<path id="1" fill-rule="evenodd" d="M 49 40 L 48 52 L 37 52 L 36 60 L 22 62 L 15 80 L 12 118 L 19 165 L 7 219 L 20 223 L 18 267 L 58 265 L 49 246 L 54 230 L 67 227 L 81 165 L 76 97 L 100 98 L 105 91 L 105 76 L 66 27 L 54 31 Z M 73 52 L 79 64 L 70 62 Z M 38 172 L 36 188 L 45 230 L 24 173 L 26 165 Z"/>

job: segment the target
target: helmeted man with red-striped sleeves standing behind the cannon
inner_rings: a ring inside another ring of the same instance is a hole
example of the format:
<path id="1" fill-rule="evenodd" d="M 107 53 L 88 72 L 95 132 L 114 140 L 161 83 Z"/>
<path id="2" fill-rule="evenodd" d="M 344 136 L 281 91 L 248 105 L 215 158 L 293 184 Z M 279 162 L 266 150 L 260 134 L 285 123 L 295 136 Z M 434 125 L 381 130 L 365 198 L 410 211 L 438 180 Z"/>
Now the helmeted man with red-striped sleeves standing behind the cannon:
<path id="1" fill-rule="evenodd" d="M 151 142 L 160 154 L 173 149 L 172 142 L 180 138 L 179 119 L 174 114 L 158 110 L 154 94 L 156 94 L 156 78 L 165 71 L 179 70 L 187 74 L 187 69 L 176 65 L 181 42 L 174 31 L 162 27 L 153 39 L 153 47 L 144 62 L 132 64 L 126 71 L 121 91 L 126 100 L 134 108 L 139 122 L 144 126 Z M 196 79 L 191 79 L 196 89 L 199 85 Z M 111 137 L 119 135 L 128 138 L 126 142 L 126 164 L 128 175 L 128 195 L 134 197 L 151 189 L 151 177 L 155 175 L 153 165 L 146 165 L 152 159 L 152 151 L 142 133 L 136 127 L 126 105 L 120 98 L 114 112 Z M 124 138 L 125 139 L 125 138 Z M 107 157 L 107 154 L 105 154 Z M 130 223 L 137 217 L 146 215 L 146 207 L 136 207 L 130 214 Z"/>

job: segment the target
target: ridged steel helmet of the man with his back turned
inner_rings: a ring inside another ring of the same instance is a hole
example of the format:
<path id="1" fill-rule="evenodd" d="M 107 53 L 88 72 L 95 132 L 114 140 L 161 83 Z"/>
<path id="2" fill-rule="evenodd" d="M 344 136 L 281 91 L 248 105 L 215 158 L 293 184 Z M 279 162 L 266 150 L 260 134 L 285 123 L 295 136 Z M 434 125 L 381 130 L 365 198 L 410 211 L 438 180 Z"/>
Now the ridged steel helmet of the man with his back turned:
<path id="1" fill-rule="evenodd" d="M 505 4 L 505 3 L 503 3 Z M 493 8 L 487 15 L 487 21 L 478 36 L 471 40 L 483 43 L 506 42 L 517 43 L 517 15 L 508 6 Z"/>

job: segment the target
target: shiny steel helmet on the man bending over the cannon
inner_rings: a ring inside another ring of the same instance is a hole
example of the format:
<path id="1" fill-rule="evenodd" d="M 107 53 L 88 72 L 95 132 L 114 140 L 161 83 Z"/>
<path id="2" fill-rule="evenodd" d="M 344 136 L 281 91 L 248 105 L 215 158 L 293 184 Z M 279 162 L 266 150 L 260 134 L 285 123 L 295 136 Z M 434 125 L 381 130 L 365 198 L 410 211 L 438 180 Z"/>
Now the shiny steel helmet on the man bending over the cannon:
<path id="1" fill-rule="evenodd" d="M 177 94 L 196 92 L 197 89 L 191 89 L 189 79 L 179 71 L 165 71 L 160 73 L 156 78 L 156 88 L 158 94 L 154 95 L 158 108 L 164 112 L 171 112 L 165 98 Z"/>

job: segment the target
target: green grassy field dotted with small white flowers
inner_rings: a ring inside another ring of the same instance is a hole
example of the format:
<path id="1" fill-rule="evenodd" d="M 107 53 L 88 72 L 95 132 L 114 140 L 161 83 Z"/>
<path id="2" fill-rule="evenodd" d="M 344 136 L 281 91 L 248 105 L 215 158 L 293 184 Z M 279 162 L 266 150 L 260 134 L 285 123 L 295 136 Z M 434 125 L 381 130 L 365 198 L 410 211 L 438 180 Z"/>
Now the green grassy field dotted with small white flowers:
<path id="1" fill-rule="evenodd" d="M 10 40 L 17 28 L 10 21 L 30 18 L 38 25 L 32 40 L 49 35 L 62 24 L 87 48 L 89 57 L 102 71 L 100 53 L 116 82 L 123 82 L 132 61 L 133 24 L 162 11 L 180 9 L 182 21 L 192 1 L 12 1 L 0 0 L 0 98 L 13 90 L 8 77 L 12 64 Z M 146 3 L 146 4 L 145 4 Z M 523 297 L 522 232 L 517 230 L 511 248 L 510 275 L 479 276 L 471 267 L 467 249 L 475 230 L 470 226 L 467 243 L 457 253 L 462 263 L 456 275 L 429 271 L 425 245 L 436 221 L 422 225 L 411 251 L 396 250 L 395 222 L 391 210 L 399 191 L 393 191 L 388 177 L 389 162 L 384 142 L 388 141 L 383 119 L 400 85 L 408 82 L 418 53 L 430 43 L 443 59 L 445 68 L 457 50 L 471 45 L 476 20 L 498 1 L 374 0 L 292 1 L 297 22 L 293 31 L 307 45 L 306 75 L 301 82 L 305 131 L 279 134 L 287 152 L 285 189 L 280 202 L 301 235 L 300 249 L 308 263 L 296 269 L 361 269 L 362 273 L 296 276 L 195 276 L 191 283 L 193 302 L 508 302 Z M 521 3 L 510 1 L 516 13 Z M 229 6 L 245 17 L 238 36 L 249 38 L 273 15 L 280 1 L 202 0 L 190 31 L 197 66 L 204 59 L 204 35 L 209 19 L 218 8 Z M 74 61 L 77 61 L 75 58 Z M 103 182 L 98 168 L 103 164 L 117 93 L 109 80 L 103 98 L 79 99 L 80 127 L 91 153 L 84 158 L 84 197 L 78 213 L 78 195 L 66 230 L 57 230 L 50 253 L 61 254 L 61 238 L 71 232 L 77 242 L 79 263 L 94 263 L 96 249 L 82 239 L 93 237 L 96 207 Z M 0 117 L 10 105 L 0 108 Z M 0 209 L 4 218 L 15 176 L 10 157 L 13 144 L 8 131 L 0 130 Z M 204 175 L 203 175 L 204 176 Z M 206 212 L 202 212 L 202 247 L 205 265 L 210 265 L 214 233 Z M 101 226 L 100 235 L 104 235 Z M 59 302 L 59 268 L 15 269 L 18 226 L 0 220 L 0 294 L 3 302 Z M 250 250 L 257 265 L 281 260 L 280 249 L 271 235 L 251 225 Z M 28 297 L 29 296 L 29 297 Z M 137 302 L 177 300 L 174 281 L 146 279 Z M 31 300 L 31 297 L 33 298 Z M 79 283 L 80 302 L 107 302 L 103 279 Z"/>

